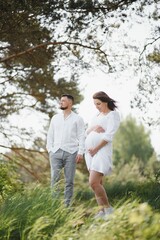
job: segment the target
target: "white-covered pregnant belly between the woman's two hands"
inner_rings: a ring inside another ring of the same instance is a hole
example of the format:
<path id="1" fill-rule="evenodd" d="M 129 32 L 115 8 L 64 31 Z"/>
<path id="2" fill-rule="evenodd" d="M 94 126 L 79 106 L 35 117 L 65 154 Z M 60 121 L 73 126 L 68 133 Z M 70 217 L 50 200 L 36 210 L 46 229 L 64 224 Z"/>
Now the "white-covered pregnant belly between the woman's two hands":
<path id="1" fill-rule="evenodd" d="M 86 141 L 85 141 L 86 149 L 96 147 L 101 140 L 102 140 L 102 134 L 92 131 L 90 134 L 88 134 L 86 138 Z"/>

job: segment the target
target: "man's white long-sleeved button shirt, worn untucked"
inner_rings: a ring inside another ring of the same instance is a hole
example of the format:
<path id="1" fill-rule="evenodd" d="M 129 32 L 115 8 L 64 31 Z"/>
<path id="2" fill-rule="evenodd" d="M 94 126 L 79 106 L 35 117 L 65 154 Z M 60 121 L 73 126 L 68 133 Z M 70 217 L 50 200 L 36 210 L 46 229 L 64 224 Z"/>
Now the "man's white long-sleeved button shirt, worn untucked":
<path id="1" fill-rule="evenodd" d="M 84 153 L 85 125 L 83 119 L 73 111 L 64 118 L 63 113 L 54 115 L 47 134 L 47 151 L 55 153 L 58 149 L 78 154 Z"/>

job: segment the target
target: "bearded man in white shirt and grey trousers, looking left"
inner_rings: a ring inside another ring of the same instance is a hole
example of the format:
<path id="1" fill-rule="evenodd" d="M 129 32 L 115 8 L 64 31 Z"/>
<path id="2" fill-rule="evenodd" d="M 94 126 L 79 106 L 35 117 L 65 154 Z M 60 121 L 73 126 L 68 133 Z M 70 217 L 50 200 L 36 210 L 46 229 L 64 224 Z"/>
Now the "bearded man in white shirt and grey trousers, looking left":
<path id="1" fill-rule="evenodd" d="M 72 111 L 74 98 L 63 94 L 60 99 L 62 113 L 51 119 L 47 134 L 47 151 L 51 166 L 51 186 L 60 180 L 62 168 L 65 176 L 65 204 L 69 206 L 73 196 L 76 163 L 83 159 L 85 125 L 83 119 Z"/>

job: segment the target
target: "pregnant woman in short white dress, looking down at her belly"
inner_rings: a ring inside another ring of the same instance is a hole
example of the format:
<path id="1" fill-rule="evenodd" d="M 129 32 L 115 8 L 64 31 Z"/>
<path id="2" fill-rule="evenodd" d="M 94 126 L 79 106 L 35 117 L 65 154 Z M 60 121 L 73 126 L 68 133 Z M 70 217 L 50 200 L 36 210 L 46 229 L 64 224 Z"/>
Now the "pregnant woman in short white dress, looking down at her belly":
<path id="1" fill-rule="evenodd" d="M 96 218 L 106 218 L 113 212 L 102 184 L 103 176 L 112 171 L 112 140 L 120 124 L 116 101 L 105 92 L 97 92 L 93 100 L 99 113 L 86 130 L 85 160 L 89 171 L 89 185 L 95 193 L 100 211 Z"/>

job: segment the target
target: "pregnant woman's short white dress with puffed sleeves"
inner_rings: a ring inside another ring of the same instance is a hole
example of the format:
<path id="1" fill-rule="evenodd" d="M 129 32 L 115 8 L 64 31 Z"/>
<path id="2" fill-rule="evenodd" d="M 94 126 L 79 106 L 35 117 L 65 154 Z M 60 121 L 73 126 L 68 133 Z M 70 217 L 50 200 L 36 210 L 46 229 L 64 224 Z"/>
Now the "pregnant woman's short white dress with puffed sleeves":
<path id="1" fill-rule="evenodd" d="M 100 125 L 105 132 L 91 131 L 85 140 L 85 161 L 88 170 L 109 175 L 112 171 L 112 140 L 120 124 L 120 116 L 117 111 L 110 111 L 107 115 L 97 114 L 87 129 Z M 87 132 L 87 130 L 86 130 Z M 93 157 L 88 152 L 89 148 L 96 147 L 102 140 L 108 143 L 102 147 Z"/>

